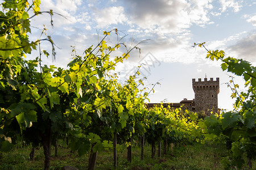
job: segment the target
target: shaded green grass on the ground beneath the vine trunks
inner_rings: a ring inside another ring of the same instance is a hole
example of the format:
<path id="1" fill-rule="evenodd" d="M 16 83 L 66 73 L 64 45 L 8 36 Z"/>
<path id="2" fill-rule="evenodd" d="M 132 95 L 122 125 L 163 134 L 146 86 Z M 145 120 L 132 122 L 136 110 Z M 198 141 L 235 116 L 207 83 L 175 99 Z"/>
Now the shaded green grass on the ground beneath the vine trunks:
<path id="1" fill-rule="evenodd" d="M 88 154 L 79 156 L 77 152 L 71 152 L 64 145 L 59 145 L 58 156 L 55 157 L 54 147 L 51 154 L 51 169 L 61 169 L 69 165 L 79 169 L 86 169 L 88 164 Z M 30 160 L 29 154 L 31 146 L 17 147 L 11 152 L 0 153 L 0 169 L 43 169 L 44 154 L 40 147 L 35 151 L 34 160 Z M 117 169 L 223 169 L 221 160 L 229 156 L 229 151 L 224 146 L 193 143 L 193 145 L 175 147 L 174 151 L 167 151 L 167 155 L 161 158 L 155 155 L 151 159 L 151 146 L 144 147 L 144 160 L 141 160 L 141 148 L 132 148 L 132 162 L 126 160 L 126 148 L 118 151 Z M 253 169 L 256 168 L 255 162 Z M 101 151 L 98 154 L 96 169 L 113 169 L 112 150 Z M 243 169 L 248 169 L 246 166 Z"/>

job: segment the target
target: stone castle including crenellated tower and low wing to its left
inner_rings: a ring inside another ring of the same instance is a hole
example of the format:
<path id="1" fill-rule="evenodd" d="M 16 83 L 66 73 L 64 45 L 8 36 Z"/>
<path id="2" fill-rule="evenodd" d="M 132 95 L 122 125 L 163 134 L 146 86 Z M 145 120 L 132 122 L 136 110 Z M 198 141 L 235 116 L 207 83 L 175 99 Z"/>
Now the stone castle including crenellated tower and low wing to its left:
<path id="1" fill-rule="evenodd" d="M 220 79 L 207 78 L 204 81 L 201 78 L 192 79 L 192 87 L 195 92 L 195 99 L 187 100 L 183 99 L 180 103 L 163 103 L 163 107 L 170 105 L 172 108 L 187 108 L 189 111 L 201 112 L 204 111 L 208 116 L 210 112 L 218 113 L 218 93 L 220 92 Z M 158 103 L 148 103 L 147 107 L 153 107 Z"/>

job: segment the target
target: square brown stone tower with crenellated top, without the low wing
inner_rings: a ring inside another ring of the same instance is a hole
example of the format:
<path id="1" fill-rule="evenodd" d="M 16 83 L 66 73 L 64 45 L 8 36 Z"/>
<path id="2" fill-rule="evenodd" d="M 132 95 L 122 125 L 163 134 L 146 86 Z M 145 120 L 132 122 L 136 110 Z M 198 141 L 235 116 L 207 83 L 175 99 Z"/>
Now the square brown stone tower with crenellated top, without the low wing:
<path id="1" fill-rule="evenodd" d="M 195 92 L 195 111 L 205 111 L 207 115 L 211 111 L 218 113 L 218 93 L 220 92 L 220 79 L 207 78 L 202 82 L 201 79 L 192 79 L 192 87 Z"/>

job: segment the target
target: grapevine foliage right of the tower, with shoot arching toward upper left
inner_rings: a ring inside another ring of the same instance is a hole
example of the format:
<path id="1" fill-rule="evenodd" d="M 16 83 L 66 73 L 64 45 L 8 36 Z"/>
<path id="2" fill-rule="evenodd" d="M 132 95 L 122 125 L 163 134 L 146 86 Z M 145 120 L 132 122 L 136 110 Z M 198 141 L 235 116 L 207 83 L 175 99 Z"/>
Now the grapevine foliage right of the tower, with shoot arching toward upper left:
<path id="1" fill-rule="evenodd" d="M 196 44 L 195 44 L 196 45 Z M 204 43 L 197 44 L 204 46 Z M 233 112 L 225 112 L 220 116 L 211 115 L 205 118 L 205 132 L 213 134 L 212 138 L 223 136 L 228 137 L 228 141 L 232 143 L 232 160 L 226 161 L 230 165 L 236 165 L 241 168 L 245 163 L 243 156 L 249 159 L 248 164 L 251 167 L 251 161 L 256 156 L 256 67 L 243 59 L 226 57 L 223 50 L 208 50 L 207 58 L 212 60 L 221 60 L 222 70 L 226 70 L 238 76 L 242 76 L 245 80 L 247 92 L 238 93 L 238 85 L 234 84 L 232 88 L 232 97 L 236 97 Z M 230 80 L 230 83 L 233 79 Z"/>

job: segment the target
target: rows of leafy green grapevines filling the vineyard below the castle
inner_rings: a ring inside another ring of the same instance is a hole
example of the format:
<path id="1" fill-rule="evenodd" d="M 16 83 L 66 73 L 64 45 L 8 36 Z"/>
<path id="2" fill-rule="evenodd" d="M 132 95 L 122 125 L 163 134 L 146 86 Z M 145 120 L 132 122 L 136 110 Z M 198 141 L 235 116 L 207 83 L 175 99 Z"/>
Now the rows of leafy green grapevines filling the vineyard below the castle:
<path id="1" fill-rule="evenodd" d="M 138 79 L 140 67 L 125 84 L 118 82 L 118 74 L 113 74 L 131 51 L 140 52 L 139 44 L 129 46 L 120 39 L 108 45 L 107 37 L 119 35 L 118 29 L 113 29 L 104 31 L 99 43 L 90 46 L 81 56 L 74 48 L 67 69 L 43 65 L 43 58 L 55 58 L 55 44 L 51 36 L 46 35 L 46 28 L 40 39 L 28 39 L 30 20 L 55 13 L 40 11 L 39 5 L 39 0 L 31 4 L 26 0 L 1 4 L 0 159 L 3 162 L 6 153 L 15 152 L 23 145 L 30 149 L 24 159 L 27 160 L 27 156 L 31 162 L 38 159 L 35 152 L 41 148 L 43 167 L 51 169 L 52 146 L 58 156 L 57 146 L 64 147 L 60 141 L 65 139 L 65 147 L 72 153 L 81 158 L 88 156 L 82 167 L 96 169 L 97 163 L 102 162 L 98 158 L 108 151 L 112 153 L 112 167 L 108 168 L 116 169 L 123 150 L 129 164 L 134 155 L 137 158 L 139 155 L 141 160 L 149 159 L 148 153 L 151 160 L 168 155 L 172 143 L 180 148 L 210 141 L 225 145 L 227 152 L 231 150 L 231 154 L 220 158 L 224 168 L 255 168 L 256 67 L 242 59 L 226 57 L 222 50 L 208 50 L 204 43 L 195 44 L 207 50 L 207 58 L 222 61 L 222 70 L 245 80 L 248 90 L 242 93 L 230 80 L 232 97 L 236 98 L 234 111 L 205 117 L 203 113 L 164 108 L 161 104 L 147 109 L 147 97 L 154 92 L 154 87 L 145 91 L 143 79 Z M 51 55 L 42 50 L 43 41 L 51 44 Z M 27 60 L 26 55 L 32 49 L 38 49 L 39 56 Z M 115 56 L 115 52 L 122 54 Z"/>

